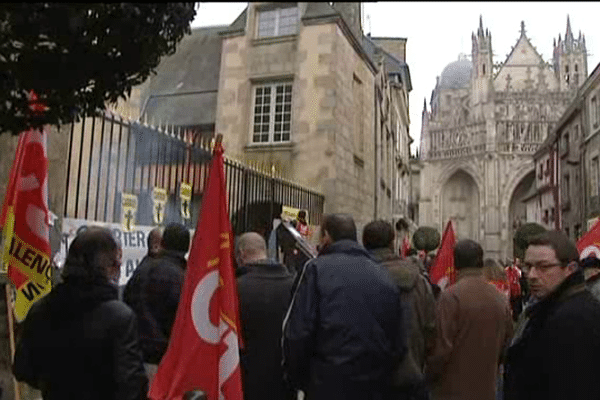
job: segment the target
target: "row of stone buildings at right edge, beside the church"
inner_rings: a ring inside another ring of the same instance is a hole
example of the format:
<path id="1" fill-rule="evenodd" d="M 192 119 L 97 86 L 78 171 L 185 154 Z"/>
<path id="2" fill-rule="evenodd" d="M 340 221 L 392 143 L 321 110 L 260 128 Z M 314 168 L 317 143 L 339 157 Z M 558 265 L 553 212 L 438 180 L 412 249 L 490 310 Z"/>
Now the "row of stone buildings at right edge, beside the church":
<path id="1" fill-rule="evenodd" d="M 600 65 L 583 82 L 555 129 L 534 154 L 536 184 L 524 198 L 528 221 L 562 229 L 573 240 L 579 239 L 600 216 L 599 88 Z"/>

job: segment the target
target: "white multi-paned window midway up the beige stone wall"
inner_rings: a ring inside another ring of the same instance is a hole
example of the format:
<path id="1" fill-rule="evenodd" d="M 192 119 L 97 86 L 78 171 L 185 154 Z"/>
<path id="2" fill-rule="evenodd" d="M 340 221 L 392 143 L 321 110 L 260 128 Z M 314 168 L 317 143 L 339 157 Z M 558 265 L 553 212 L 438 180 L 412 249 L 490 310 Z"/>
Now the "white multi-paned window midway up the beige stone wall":
<path id="1" fill-rule="evenodd" d="M 292 131 L 292 82 L 254 87 L 252 143 L 289 142 Z"/>

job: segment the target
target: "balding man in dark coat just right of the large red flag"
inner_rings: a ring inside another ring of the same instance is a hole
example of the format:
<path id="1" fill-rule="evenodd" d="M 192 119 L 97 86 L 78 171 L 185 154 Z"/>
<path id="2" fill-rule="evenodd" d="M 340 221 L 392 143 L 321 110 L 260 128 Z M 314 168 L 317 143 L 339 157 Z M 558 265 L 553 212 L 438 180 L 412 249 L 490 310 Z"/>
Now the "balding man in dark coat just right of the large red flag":
<path id="1" fill-rule="evenodd" d="M 294 277 L 283 265 L 267 259 L 261 235 L 240 236 L 236 258 L 246 273 L 238 277 L 241 350 L 245 400 L 292 400 L 281 366 L 281 325 L 292 297 Z"/>

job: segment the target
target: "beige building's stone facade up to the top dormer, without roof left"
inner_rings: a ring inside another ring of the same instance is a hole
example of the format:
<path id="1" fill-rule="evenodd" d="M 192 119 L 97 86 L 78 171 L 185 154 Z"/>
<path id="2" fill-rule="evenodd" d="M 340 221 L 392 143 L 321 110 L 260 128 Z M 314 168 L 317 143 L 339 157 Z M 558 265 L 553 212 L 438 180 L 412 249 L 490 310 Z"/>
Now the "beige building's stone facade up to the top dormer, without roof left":
<path id="1" fill-rule="evenodd" d="M 259 13 L 280 8 L 249 3 L 222 34 L 216 132 L 227 154 L 323 193 L 325 212 L 350 213 L 359 229 L 392 222 L 407 206 L 406 78 L 392 81 L 395 57 L 362 36 L 360 3 L 297 3 L 296 33 L 259 37 Z M 289 140 L 257 142 L 259 90 L 277 85 L 291 85 Z"/>

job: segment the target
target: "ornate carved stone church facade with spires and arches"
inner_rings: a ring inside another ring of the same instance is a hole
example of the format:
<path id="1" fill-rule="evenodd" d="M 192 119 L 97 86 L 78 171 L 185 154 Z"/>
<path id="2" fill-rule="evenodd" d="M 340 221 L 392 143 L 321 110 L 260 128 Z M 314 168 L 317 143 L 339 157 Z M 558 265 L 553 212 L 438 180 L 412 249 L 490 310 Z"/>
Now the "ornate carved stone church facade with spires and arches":
<path id="1" fill-rule="evenodd" d="M 438 77 L 423 110 L 419 225 L 481 243 L 486 257 L 512 258 L 522 203 L 534 180 L 532 155 L 587 76 L 585 37 L 575 39 L 567 17 L 564 40 L 546 62 L 521 34 L 503 63 L 479 21 L 470 59 L 459 56 Z"/>

